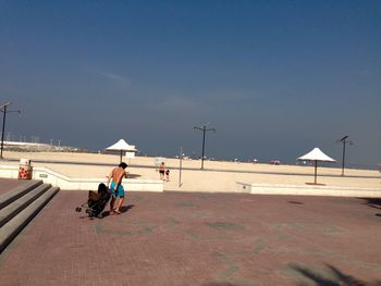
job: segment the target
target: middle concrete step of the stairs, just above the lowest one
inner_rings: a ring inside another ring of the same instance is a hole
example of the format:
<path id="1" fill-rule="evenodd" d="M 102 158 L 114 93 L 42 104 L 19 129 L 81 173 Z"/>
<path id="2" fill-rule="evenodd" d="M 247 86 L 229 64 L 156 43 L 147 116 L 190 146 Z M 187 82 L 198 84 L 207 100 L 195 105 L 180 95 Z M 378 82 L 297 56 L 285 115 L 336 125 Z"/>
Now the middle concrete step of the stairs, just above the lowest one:
<path id="1" fill-rule="evenodd" d="M 34 188 L 23 197 L 2 208 L 0 210 L 0 227 L 12 220 L 13 216 L 24 210 L 28 204 L 30 204 L 49 188 L 51 188 L 50 184 L 39 185 L 37 188 Z"/>

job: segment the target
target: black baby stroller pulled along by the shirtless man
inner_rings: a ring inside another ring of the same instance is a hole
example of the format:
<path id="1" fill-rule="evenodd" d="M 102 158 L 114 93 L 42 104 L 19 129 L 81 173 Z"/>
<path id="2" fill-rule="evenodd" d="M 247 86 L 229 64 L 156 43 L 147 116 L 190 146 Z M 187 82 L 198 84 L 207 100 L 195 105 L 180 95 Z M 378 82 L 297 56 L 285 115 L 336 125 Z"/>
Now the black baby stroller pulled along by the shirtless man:
<path id="1" fill-rule="evenodd" d="M 111 197 L 111 191 L 106 187 L 103 183 L 99 184 L 98 191 L 88 191 L 87 202 L 81 204 L 76 208 L 75 211 L 81 212 L 82 208 L 86 208 L 86 213 L 88 217 L 98 217 L 102 219 L 102 211 L 105 210 L 106 204 L 109 202 Z"/>

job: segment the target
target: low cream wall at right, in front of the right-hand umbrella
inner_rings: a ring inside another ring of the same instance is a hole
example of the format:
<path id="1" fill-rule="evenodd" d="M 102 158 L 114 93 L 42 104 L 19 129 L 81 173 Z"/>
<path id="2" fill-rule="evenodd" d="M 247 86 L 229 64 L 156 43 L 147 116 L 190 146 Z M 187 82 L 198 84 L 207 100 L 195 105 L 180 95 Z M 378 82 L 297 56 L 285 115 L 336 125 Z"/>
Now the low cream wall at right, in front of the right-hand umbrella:
<path id="1" fill-rule="evenodd" d="M 381 188 L 354 188 L 319 185 L 271 185 L 237 182 L 242 192 L 255 195 L 296 195 L 381 198 Z"/>

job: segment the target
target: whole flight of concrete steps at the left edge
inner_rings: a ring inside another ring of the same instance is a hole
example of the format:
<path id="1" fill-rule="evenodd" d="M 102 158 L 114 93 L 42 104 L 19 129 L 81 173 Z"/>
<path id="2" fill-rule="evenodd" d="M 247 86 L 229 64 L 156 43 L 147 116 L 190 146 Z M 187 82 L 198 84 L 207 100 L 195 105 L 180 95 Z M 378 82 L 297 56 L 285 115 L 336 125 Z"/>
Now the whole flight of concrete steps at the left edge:
<path id="1" fill-rule="evenodd" d="M 0 253 L 58 191 L 33 179 L 0 196 Z"/>

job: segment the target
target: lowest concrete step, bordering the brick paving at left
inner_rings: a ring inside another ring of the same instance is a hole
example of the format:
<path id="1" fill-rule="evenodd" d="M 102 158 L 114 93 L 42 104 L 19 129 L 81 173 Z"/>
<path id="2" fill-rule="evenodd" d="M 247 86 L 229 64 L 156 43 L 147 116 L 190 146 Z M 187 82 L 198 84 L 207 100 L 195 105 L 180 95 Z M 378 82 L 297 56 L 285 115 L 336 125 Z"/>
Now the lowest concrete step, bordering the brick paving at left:
<path id="1" fill-rule="evenodd" d="M 57 187 L 48 189 L 0 228 L 0 253 L 58 191 L 59 188 Z"/>

